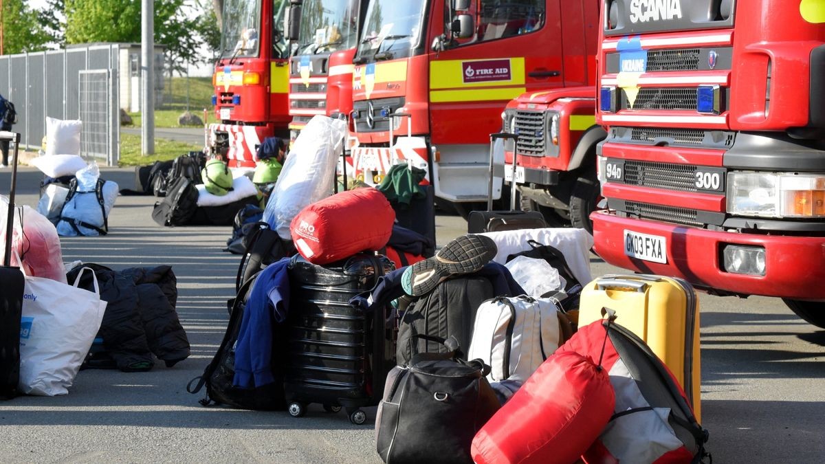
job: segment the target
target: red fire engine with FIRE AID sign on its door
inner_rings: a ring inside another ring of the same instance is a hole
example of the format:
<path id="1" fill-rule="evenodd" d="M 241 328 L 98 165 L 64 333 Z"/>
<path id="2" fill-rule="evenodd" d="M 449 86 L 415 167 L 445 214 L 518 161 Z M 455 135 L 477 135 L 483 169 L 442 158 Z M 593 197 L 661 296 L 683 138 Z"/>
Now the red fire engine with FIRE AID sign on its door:
<path id="1" fill-rule="evenodd" d="M 350 168 L 378 183 L 392 165 L 408 163 L 426 170 L 436 200 L 460 210 L 486 201 L 489 135 L 502 129 L 507 102 L 587 85 L 588 63 L 595 72 L 595 46 L 584 44 L 596 37 L 596 12 L 588 20 L 587 8 L 563 0 L 371 0 L 353 59 Z"/>

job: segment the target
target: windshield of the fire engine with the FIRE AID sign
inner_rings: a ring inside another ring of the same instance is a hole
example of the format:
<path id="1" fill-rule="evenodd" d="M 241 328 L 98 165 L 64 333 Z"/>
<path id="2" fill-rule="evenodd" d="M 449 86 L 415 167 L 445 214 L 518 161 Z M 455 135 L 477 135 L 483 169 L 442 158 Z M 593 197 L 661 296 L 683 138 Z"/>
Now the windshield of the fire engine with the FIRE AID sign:
<path id="1" fill-rule="evenodd" d="M 366 11 L 358 57 L 406 58 L 422 36 L 425 0 L 373 0 Z"/>

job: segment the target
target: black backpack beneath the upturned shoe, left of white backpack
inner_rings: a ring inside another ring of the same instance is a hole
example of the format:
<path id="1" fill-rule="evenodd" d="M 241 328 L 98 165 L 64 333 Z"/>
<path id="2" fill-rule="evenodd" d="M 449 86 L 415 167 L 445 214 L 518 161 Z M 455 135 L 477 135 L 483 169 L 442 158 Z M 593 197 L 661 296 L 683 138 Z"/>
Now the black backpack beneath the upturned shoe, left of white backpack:
<path id="1" fill-rule="evenodd" d="M 469 347 L 475 313 L 493 296 L 493 284 L 487 278 L 463 276 L 441 282 L 414 301 L 398 326 L 398 364 L 409 362 L 417 353 L 443 352 L 443 342 L 450 337 Z"/>

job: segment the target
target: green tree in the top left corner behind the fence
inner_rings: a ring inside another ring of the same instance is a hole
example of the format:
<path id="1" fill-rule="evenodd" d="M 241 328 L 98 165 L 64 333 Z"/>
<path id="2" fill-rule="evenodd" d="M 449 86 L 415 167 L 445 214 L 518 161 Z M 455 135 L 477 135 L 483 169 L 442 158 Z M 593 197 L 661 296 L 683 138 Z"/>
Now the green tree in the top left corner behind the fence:
<path id="1" fill-rule="evenodd" d="M 2 54 L 39 51 L 50 41 L 23 0 L 2 0 Z"/>

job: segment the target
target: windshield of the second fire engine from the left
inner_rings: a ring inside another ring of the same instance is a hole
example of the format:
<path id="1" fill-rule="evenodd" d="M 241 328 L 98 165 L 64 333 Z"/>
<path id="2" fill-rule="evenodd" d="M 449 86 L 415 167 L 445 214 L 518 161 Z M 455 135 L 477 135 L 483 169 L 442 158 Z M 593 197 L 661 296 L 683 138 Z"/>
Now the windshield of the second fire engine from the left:
<path id="1" fill-rule="evenodd" d="M 331 53 L 356 46 L 358 0 L 304 0 L 298 54 Z"/>

